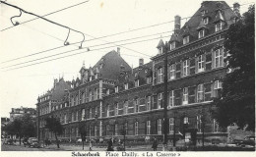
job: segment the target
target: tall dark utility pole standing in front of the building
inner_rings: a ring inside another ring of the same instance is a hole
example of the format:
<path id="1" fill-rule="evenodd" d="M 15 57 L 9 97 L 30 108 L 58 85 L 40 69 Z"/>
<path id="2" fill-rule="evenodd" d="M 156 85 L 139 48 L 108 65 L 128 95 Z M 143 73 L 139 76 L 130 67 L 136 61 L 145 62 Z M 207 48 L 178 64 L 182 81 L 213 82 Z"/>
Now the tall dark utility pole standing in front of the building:
<path id="1" fill-rule="evenodd" d="M 164 47 L 162 47 L 164 48 Z M 166 147 L 167 145 L 167 132 L 168 132 L 168 124 L 167 124 L 167 50 L 165 48 L 164 53 L 164 69 L 163 69 L 163 85 L 164 85 L 164 91 L 163 91 L 163 147 Z"/>

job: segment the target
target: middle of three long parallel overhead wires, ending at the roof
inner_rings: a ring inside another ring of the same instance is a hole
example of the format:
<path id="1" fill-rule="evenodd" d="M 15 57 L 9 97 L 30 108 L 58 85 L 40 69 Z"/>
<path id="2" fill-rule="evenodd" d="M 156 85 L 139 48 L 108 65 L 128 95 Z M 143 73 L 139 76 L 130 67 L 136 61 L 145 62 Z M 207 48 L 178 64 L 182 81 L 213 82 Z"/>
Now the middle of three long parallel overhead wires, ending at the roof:
<path id="1" fill-rule="evenodd" d="M 173 30 L 171 30 L 171 31 L 173 31 Z M 164 33 L 171 32 L 171 31 L 166 31 L 166 32 L 164 32 Z M 98 47 L 98 46 L 103 46 L 103 45 L 112 44 L 112 43 L 116 43 L 116 42 L 123 42 L 123 41 L 129 41 L 129 40 L 144 38 L 144 37 L 148 37 L 148 36 L 155 36 L 155 35 L 157 35 L 157 34 L 163 34 L 163 32 L 156 33 L 156 34 L 151 34 L 151 35 L 145 35 L 145 36 L 134 37 L 134 38 L 123 39 L 123 40 L 117 40 L 117 41 L 112 41 L 112 42 L 103 43 L 103 44 L 96 44 L 96 45 L 92 45 L 92 46 L 89 46 L 89 47 L 90 47 L 90 48 L 92 48 L 92 47 Z M 122 45 L 121 45 L 121 44 L 118 44 L 118 46 L 122 46 Z M 86 48 L 88 48 L 88 47 L 84 47 L 84 48 L 81 48 L 81 49 L 86 49 Z M 23 64 L 27 64 L 27 63 L 34 62 L 34 61 L 38 61 L 38 60 L 42 60 L 42 59 L 46 59 L 46 58 L 50 58 L 50 57 L 54 57 L 54 56 L 58 56 L 58 55 L 62 55 L 62 54 L 70 53 L 70 52 L 74 52 L 74 51 L 78 51 L 78 50 L 81 50 L 81 49 L 72 49 L 72 50 L 68 50 L 68 51 L 61 52 L 61 53 L 57 53 L 57 54 L 53 54 L 53 55 L 49 55 L 49 56 L 45 56 L 45 57 L 33 59 L 33 60 L 30 60 L 30 61 L 26 61 L 26 62 L 22 62 L 22 63 L 18 63 L 18 64 L 13 64 L 13 65 L 10 65 L 10 66 L 2 67 L 1 69 L 6 69 L 6 68 L 10 68 L 10 67 L 15 67 L 15 66 L 23 65 Z M 91 50 L 90 50 L 90 51 L 91 51 Z M 147 57 L 149 57 L 149 58 L 152 57 L 152 56 L 146 55 L 146 54 L 144 54 L 144 53 L 143 53 L 142 55 L 145 55 L 145 56 L 147 56 Z"/>

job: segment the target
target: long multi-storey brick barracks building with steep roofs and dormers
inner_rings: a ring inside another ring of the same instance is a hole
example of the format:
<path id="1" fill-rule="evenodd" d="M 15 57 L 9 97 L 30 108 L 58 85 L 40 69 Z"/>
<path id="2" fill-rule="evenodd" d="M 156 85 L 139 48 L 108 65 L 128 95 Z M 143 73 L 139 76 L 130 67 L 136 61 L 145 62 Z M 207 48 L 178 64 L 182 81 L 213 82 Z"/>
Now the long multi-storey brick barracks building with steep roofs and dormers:
<path id="1" fill-rule="evenodd" d="M 131 69 L 118 49 L 103 56 L 93 68 L 83 66 L 81 78 L 72 82 L 61 79 L 68 85 L 61 88 L 58 98 L 51 98 L 56 89 L 38 98 L 41 137 L 50 137 L 43 129 L 43 118 L 53 115 L 64 126 L 61 137 L 71 140 L 80 137 L 81 125 L 90 138 L 125 133 L 128 140 L 162 139 L 163 105 L 167 104 L 170 141 L 174 133 L 176 138 L 184 138 L 192 131 L 196 131 L 198 142 L 203 134 L 225 140 L 226 129 L 219 127 L 211 111 L 227 72 L 224 34 L 239 18 L 239 4 L 233 7 L 231 10 L 224 1 L 205 1 L 182 27 L 176 16 L 173 34 L 165 43 L 160 40 L 158 54 L 150 63 L 140 59 L 139 67 Z M 164 54 L 167 102 L 163 100 Z"/>

